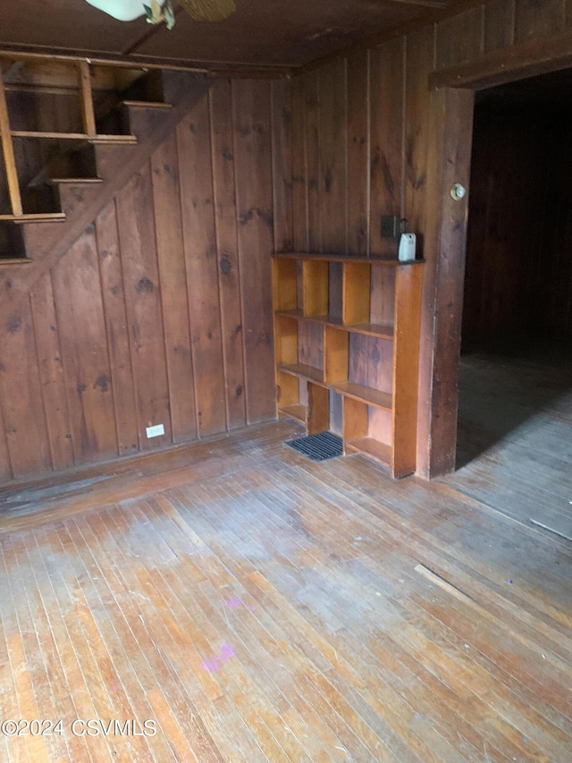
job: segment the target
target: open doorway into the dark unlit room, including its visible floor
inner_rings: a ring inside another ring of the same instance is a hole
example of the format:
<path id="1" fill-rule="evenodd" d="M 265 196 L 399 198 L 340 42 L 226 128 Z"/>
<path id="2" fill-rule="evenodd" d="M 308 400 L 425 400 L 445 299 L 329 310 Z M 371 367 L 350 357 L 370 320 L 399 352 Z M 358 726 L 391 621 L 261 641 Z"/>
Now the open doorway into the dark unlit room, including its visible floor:
<path id="1" fill-rule="evenodd" d="M 570 539 L 571 117 L 572 70 L 475 97 L 454 475 Z"/>

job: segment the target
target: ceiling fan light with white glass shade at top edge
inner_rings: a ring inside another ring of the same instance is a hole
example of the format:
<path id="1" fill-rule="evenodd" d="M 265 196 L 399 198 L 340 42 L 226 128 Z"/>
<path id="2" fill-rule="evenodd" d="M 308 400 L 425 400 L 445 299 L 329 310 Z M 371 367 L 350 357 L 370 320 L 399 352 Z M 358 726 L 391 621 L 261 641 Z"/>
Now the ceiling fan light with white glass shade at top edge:
<path id="1" fill-rule="evenodd" d="M 118 21 L 134 21 L 139 16 L 147 16 L 147 23 L 160 24 L 163 21 L 167 29 L 175 24 L 175 15 L 171 0 L 87 0 L 104 13 Z M 224 21 L 236 11 L 234 0 L 180 0 L 181 6 L 195 21 Z"/>

